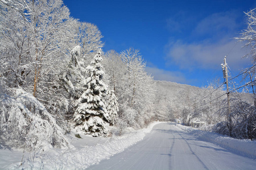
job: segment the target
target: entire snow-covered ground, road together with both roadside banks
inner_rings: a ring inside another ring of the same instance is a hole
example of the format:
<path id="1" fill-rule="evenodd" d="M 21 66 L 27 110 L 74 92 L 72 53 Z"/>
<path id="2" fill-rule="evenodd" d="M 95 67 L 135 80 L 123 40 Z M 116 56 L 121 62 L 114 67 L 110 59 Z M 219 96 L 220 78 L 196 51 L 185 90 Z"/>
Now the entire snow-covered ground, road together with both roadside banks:
<path id="1" fill-rule="evenodd" d="M 153 126 L 154 129 L 148 133 Z M 236 147 L 240 142 L 241 148 L 244 148 L 243 152 L 236 151 L 236 153 L 243 153 L 253 158 L 250 151 L 246 150 L 254 150 L 256 141 L 235 139 L 234 144 L 230 142 L 234 141 L 231 138 L 193 130 L 175 123 L 155 122 L 146 129 L 138 131 L 130 129 L 122 137 L 93 138 L 87 135 L 81 137 L 82 139 L 76 138 L 74 134 L 69 136 L 74 146 L 69 150 L 48 146 L 44 148 L 44 152 L 32 157 L 29 153 L 25 153 L 22 166 L 19 166 L 22 150 L 11 149 L 0 141 L 0 169 L 255 169 L 256 167 L 255 160 L 236 155 L 233 153 L 234 150 L 230 151 L 206 142 L 214 142 L 213 139 L 217 139 L 219 143 L 230 143 L 229 148 Z M 250 146 L 247 147 L 246 143 L 250 143 Z"/>

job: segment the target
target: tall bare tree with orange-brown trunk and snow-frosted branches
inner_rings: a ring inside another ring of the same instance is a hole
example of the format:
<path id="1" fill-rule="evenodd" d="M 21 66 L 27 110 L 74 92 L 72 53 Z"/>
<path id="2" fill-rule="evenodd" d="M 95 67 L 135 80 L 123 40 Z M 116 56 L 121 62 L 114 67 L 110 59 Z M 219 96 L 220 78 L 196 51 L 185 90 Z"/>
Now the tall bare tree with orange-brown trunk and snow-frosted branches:
<path id="1" fill-rule="evenodd" d="M 40 80 L 46 74 L 56 74 L 60 66 L 60 54 L 65 48 L 68 8 L 60 0 L 29 1 L 30 16 L 27 29 L 30 33 L 29 57 L 34 74 L 33 95 L 36 96 Z"/>

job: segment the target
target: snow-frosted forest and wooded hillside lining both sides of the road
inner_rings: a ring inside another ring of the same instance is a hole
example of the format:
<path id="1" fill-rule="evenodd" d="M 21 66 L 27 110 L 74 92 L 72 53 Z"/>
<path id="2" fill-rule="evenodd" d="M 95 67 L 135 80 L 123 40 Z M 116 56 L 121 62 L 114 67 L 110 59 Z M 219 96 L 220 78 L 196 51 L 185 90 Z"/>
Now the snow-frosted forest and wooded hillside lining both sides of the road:
<path id="1" fill-rule="evenodd" d="M 256 139 L 255 96 L 248 93 L 255 88 L 254 10 L 237 38 L 251 48 L 252 67 L 242 71 L 245 80 L 251 73 L 243 86 L 250 90 L 230 90 L 228 107 L 222 78 L 203 88 L 155 81 L 139 50 L 104 52 L 97 25 L 72 18 L 61 0 L 1 0 L 0 7 L 0 139 L 6 145 L 65 148 L 72 132 L 111 137 L 152 121 Z"/>

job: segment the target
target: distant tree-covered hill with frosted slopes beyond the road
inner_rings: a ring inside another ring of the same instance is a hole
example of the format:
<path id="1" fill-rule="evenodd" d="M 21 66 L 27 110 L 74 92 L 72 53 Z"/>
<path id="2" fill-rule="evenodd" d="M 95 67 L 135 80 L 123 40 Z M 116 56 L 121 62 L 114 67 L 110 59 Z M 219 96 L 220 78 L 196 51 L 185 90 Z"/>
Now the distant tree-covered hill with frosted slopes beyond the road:
<path id="1" fill-rule="evenodd" d="M 219 103 L 226 102 L 226 91 L 224 90 L 215 91 L 214 88 L 200 88 L 188 84 L 179 84 L 163 80 L 155 80 L 155 84 L 156 94 L 168 101 L 168 107 L 174 114 L 176 114 L 176 116 L 177 114 L 181 114 L 184 108 L 189 109 L 189 112 L 193 112 L 192 110 L 196 107 L 200 107 L 200 105 L 208 103 L 211 100 L 214 102 L 214 99 L 221 95 L 223 96 L 220 97 Z M 254 104 L 253 94 L 233 92 L 230 96 L 232 99 L 239 98 L 251 105 Z"/>

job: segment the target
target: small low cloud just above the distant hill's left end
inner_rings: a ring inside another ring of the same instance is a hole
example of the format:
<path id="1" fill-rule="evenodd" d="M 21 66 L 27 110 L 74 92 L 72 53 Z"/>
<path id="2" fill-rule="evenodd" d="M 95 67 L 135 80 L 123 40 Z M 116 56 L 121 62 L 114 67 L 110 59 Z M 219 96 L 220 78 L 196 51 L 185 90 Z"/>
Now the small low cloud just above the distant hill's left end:
<path id="1" fill-rule="evenodd" d="M 176 83 L 187 83 L 184 75 L 179 71 L 166 71 L 163 69 L 158 69 L 156 67 L 146 67 L 147 73 L 154 76 L 154 80 L 166 80 L 169 82 Z"/>

